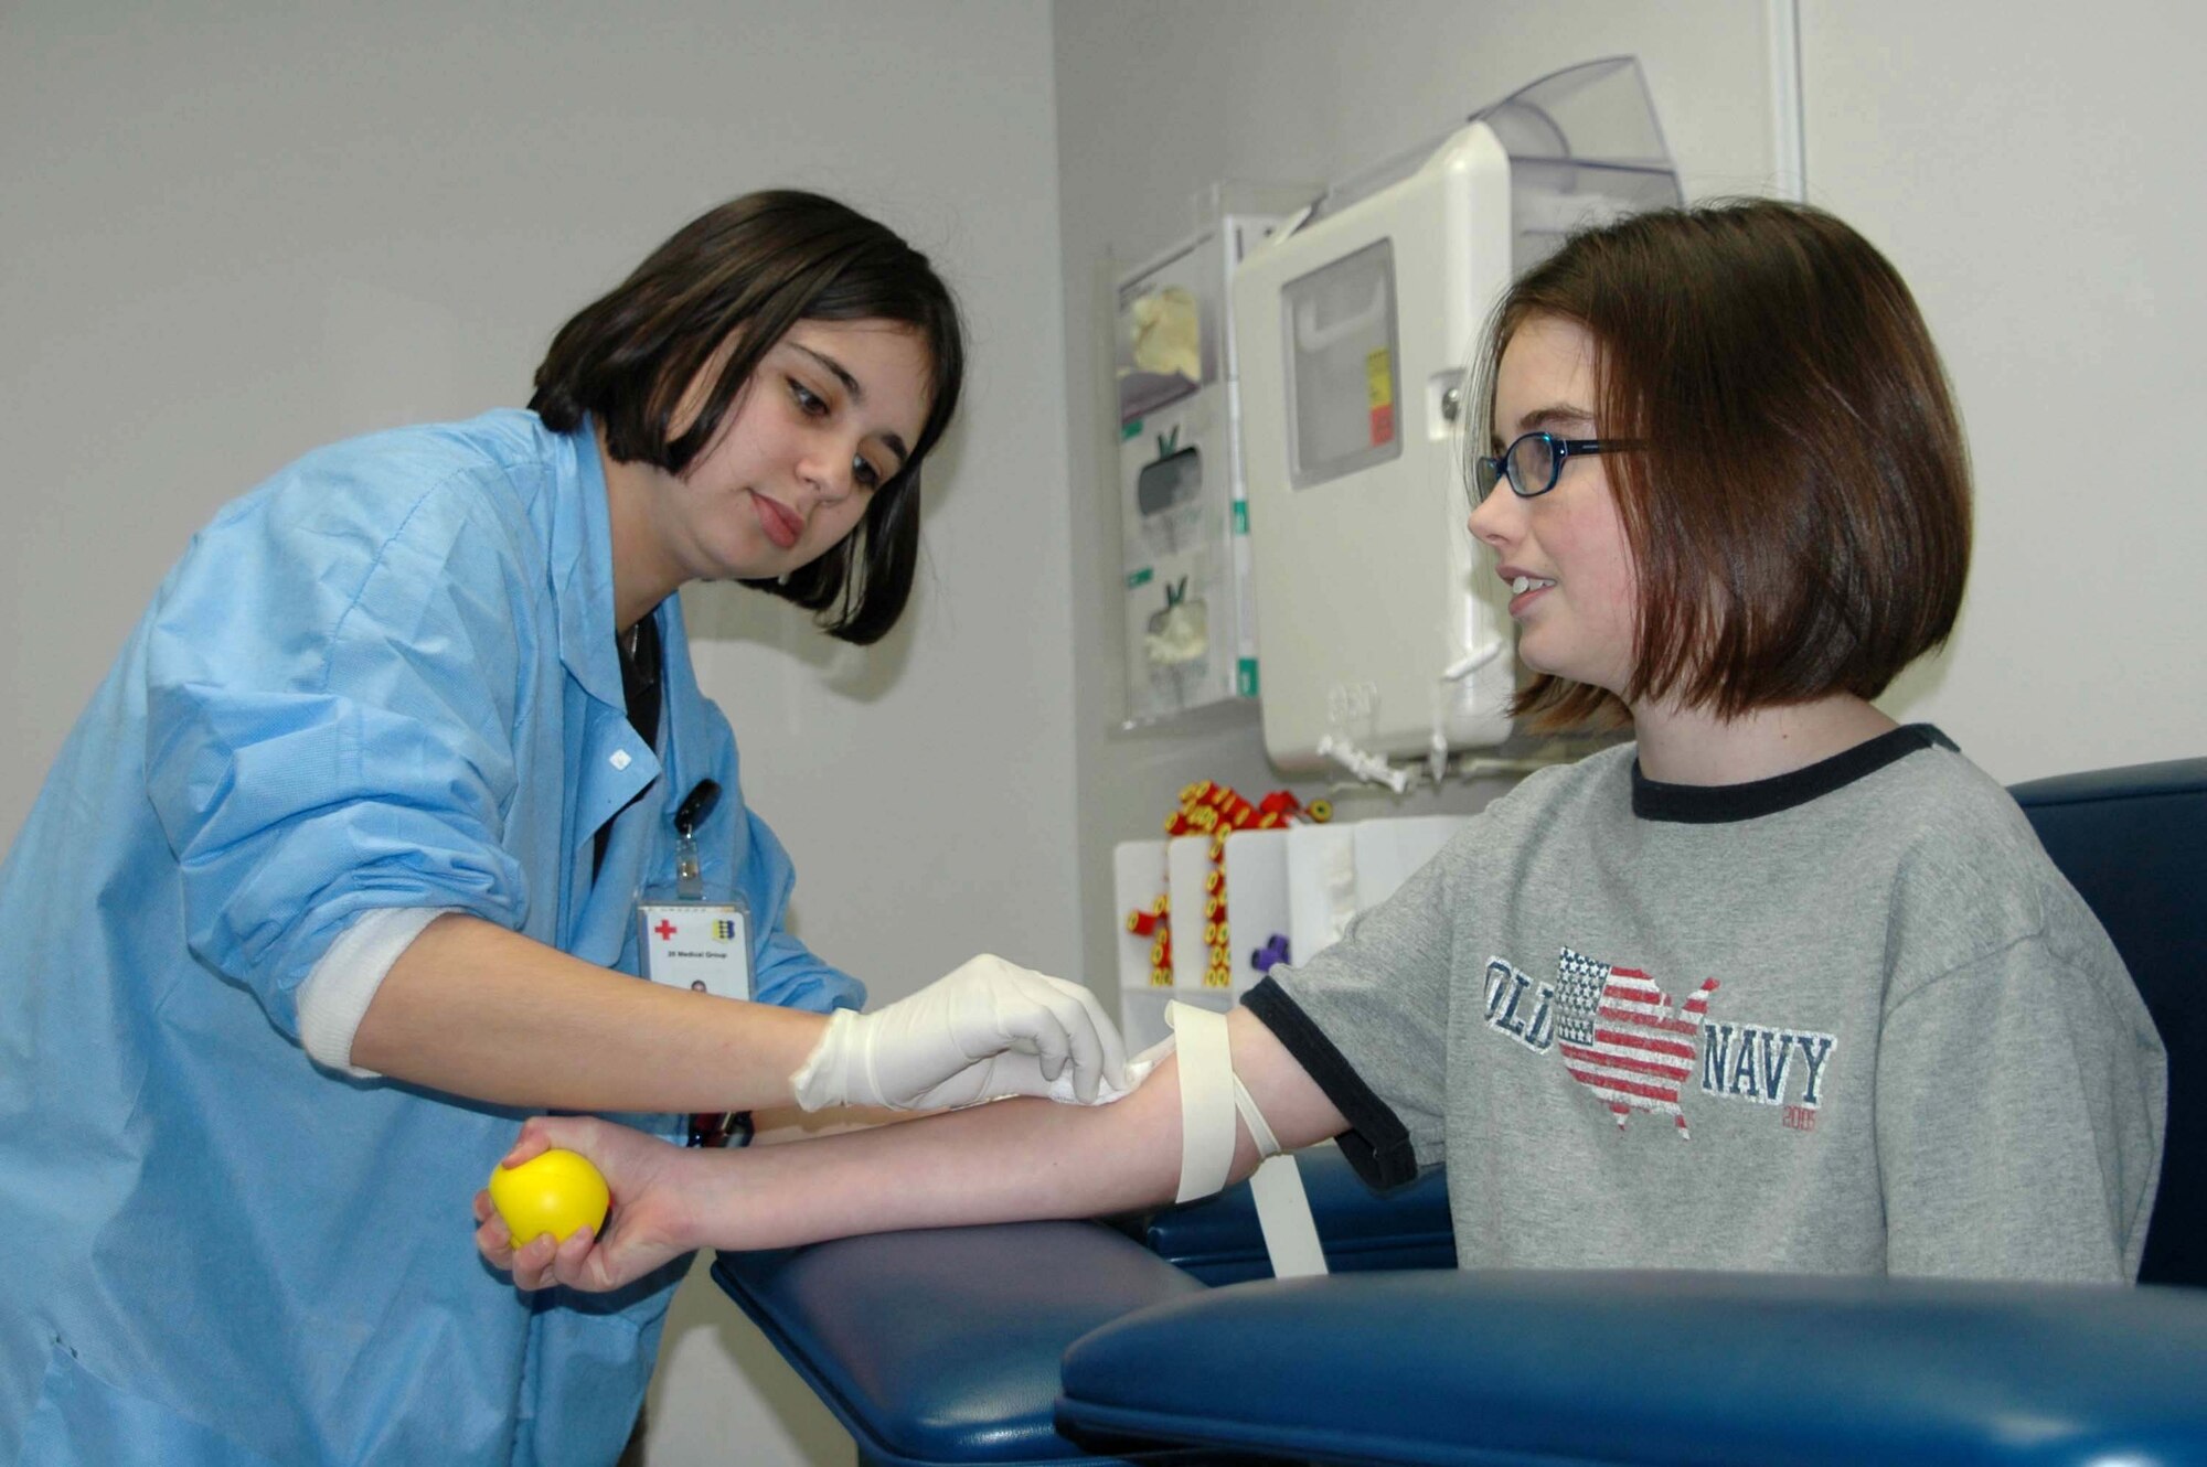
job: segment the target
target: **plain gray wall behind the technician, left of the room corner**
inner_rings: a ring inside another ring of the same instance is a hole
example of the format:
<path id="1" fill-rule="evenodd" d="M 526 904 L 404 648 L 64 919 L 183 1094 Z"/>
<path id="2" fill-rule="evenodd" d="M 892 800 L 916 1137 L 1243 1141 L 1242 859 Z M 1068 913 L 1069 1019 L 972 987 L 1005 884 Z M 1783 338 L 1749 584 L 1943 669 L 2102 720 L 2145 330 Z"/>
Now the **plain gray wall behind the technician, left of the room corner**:
<path id="1" fill-rule="evenodd" d="M 313 443 L 523 401 L 651 245 L 797 183 L 942 263 L 971 395 L 907 627 L 830 655 L 713 589 L 700 671 L 797 856 L 801 931 L 878 997 L 980 944 L 1070 966 L 1051 86 L 1037 0 L 9 4 L 0 843 L 218 503 Z M 975 717 L 1006 688 L 1017 717 Z M 653 1414 L 658 1463 L 852 1458 L 702 1277 Z"/>

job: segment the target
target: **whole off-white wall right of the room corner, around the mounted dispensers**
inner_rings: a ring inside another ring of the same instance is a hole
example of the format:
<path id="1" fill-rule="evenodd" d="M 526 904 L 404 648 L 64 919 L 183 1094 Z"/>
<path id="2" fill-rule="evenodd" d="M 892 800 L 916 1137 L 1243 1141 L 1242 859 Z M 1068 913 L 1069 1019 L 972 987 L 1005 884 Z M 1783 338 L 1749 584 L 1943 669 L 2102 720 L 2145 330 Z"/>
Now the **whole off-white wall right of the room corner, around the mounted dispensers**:
<path id="1" fill-rule="evenodd" d="M 1110 971 L 1110 847 L 1190 779 L 1273 788 L 1254 717 L 1117 732 L 1108 333 L 1119 267 L 1214 181 L 1340 179 L 1558 66 L 1635 53 L 1688 196 L 1781 192 L 1768 0 L 1057 0 L 1081 911 Z M 2183 424 L 2207 287 L 2196 7 L 1803 0 L 1808 196 L 1916 287 L 1977 468 L 1949 651 L 1883 699 L 2004 781 L 2203 752 L 2207 494 Z M 1262 631 L 1260 631 L 1262 635 Z M 1262 649 L 1260 649 L 1262 651 Z M 1393 803 L 1465 807 L 1457 790 Z M 1390 801 L 1366 796 L 1364 807 Z"/>

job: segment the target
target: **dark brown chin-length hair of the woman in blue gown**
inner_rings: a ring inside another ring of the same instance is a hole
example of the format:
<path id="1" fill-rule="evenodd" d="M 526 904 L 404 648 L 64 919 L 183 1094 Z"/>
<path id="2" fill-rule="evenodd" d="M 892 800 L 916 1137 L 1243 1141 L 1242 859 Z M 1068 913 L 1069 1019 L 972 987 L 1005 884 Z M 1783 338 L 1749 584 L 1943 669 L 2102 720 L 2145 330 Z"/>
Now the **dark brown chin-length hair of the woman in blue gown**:
<path id="1" fill-rule="evenodd" d="M 801 320 L 911 326 L 931 364 L 927 421 L 911 457 L 874 490 L 859 525 L 783 580 L 744 585 L 788 598 L 845 642 L 878 642 L 911 598 L 920 558 L 920 463 L 942 439 L 964 382 L 958 302 L 927 256 L 819 194 L 746 194 L 691 221 L 609 296 L 552 338 L 530 408 L 556 432 L 587 413 L 620 463 L 682 474 L 719 432 L 766 351 Z M 697 417 L 673 432 L 691 382 L 726 349 Z"/>

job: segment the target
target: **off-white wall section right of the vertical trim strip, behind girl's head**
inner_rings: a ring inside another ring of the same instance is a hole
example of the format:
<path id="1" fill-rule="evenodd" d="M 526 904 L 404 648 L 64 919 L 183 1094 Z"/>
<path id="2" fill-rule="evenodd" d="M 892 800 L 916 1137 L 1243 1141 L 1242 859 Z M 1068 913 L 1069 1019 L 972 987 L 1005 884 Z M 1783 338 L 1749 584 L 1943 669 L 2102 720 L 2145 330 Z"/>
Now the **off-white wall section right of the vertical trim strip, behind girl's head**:
<path id="1" fill-rule="evenodd" d="M 2015 781 L 2207 752 L 2207 11 L 1810 0 L 1810 199 L 1885 247 L 1977 470 L 1953 649 L 1894 699 Z"/>

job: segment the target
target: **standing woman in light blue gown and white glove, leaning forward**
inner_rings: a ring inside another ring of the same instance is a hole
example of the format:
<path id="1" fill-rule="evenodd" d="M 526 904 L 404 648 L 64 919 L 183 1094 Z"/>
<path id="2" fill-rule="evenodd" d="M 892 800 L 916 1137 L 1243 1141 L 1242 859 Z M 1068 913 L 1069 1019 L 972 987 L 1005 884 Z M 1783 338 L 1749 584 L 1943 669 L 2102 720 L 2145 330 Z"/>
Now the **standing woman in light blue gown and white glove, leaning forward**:
<path id="1" fill-rule="evenodd" d="M 530 413 L 324 448 L 196 536 L 0 869 L 0 1463 L 609 1463 L 680 1266 L 483 1268 L 455 1222 L 523 1114 L 1123 1083 L 1084 991 L 998 960 L 854 1015 L 691 673 L 686 580 L 896 622 L 960 377 L 920 254 L 755 194 L 567 322 Z M 678 821 L 759 1002 L 636 977 Z"/>

